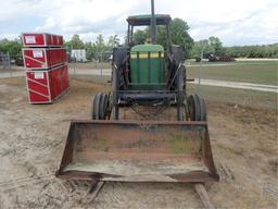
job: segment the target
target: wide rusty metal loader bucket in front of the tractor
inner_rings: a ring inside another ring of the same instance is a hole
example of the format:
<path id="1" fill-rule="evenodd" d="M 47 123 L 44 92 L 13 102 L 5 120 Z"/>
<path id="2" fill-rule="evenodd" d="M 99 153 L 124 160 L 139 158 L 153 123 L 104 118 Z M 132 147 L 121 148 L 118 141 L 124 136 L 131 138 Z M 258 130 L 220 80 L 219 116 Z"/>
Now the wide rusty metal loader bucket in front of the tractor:
<path id="1" fill-rule="evenodd" d="M 215 182 L 206 122 L 72 121 L 56 176 L 119 182 Z"/>

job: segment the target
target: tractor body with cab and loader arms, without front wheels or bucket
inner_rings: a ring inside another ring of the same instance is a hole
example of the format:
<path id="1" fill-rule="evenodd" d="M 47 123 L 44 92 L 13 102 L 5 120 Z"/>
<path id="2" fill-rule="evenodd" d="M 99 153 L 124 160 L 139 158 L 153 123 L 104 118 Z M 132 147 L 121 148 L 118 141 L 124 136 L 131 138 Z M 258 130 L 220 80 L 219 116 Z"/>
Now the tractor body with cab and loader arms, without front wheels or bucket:
<path id="1" fill-rule="evenodd" d="M 186 69 L 184 48 L 172 44 L 170 16 L 147 14 L 127 17 L 126 45 L 113 49 L 112 87 L 113 118 L 118 118 L 121 104 L 175 103 L 184 112 Z M 136 27 L 150 28 L 151 41 L 136 45 Z M 156 27 L 165 28 L 166 44 L 157 45 Z M 179 120 L 184 119 L 178 113 Z"/>

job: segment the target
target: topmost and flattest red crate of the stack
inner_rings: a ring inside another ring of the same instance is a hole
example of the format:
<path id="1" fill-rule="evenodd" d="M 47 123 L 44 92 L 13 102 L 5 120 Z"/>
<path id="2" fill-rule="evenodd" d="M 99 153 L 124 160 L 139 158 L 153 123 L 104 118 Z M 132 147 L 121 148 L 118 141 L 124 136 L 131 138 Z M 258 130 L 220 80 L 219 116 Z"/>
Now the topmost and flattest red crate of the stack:
<path id="1" fill-rule="evenodd" d="M 24 47 L 61 47 L 63 37 L 53 34 L 27 33 L 22 35 Z"/>

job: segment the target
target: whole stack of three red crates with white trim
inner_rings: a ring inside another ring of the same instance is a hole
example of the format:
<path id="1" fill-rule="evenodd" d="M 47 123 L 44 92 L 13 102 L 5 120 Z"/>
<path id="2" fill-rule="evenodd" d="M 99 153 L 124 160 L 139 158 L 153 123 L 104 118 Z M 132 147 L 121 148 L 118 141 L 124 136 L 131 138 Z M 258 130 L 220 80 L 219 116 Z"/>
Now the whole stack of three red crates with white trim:
<path id="1" fill-rule="evenodd" d="M 63 37 L 29 33 L 22 41 L 29 102 L 51 103 L 70 89 Z"/>

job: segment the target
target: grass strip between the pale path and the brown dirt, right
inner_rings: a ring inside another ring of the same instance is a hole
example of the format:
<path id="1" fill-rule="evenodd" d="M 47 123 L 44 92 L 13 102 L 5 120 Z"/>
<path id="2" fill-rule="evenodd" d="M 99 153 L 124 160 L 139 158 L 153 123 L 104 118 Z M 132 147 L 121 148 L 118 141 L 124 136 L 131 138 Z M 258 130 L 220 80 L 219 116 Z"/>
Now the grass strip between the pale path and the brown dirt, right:
<path id="1" fill-rule="evenodd" d="M 257 90 L 247 90 L 214 86 L 198 86 L 188 84 L 188 95 L 197 93 L 205 100 L 219 101 L 232 106 L 251 107 L 255 109 L 277 110 L 278 95 Z"/>

